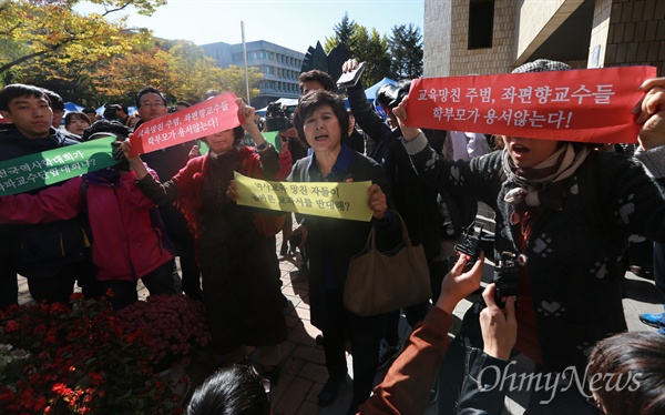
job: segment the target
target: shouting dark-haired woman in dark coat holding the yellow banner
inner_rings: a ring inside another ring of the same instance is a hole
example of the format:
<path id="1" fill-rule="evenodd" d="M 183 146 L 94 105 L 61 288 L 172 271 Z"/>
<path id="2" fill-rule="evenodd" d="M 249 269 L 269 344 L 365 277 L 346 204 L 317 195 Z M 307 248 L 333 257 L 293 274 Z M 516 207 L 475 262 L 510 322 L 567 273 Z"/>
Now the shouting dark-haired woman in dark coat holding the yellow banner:
<path id="1" fill-rule="evenodd" d="M 294 165 L 291 182 L 371 181 L 368 204 L 374 212 L 371 223 L 305 216 L 305 242 L 309 257 L 309 302 L 311 323 L 324 333 L 324 353 L 329 378 L 318 395 L 321 406 L 330 405 L 345 381 L 347 364 L 345 343 L 350 335 L 354 355 L 354 396 L 348 413 L 370 394 L 376 373 L 381 316 L 362 317 L 342 305 L 342 293 L 350 259 L 362 251 L 370 226 L 377 241 L 395 242 L 399 224 L 391 205 L 381 168 L 350 150 L 347 141 L 348 114 L 342 100 L 328 91 L 313 91 L 300 98 L 294 124 L 305 138 L 313 154 Z"/>

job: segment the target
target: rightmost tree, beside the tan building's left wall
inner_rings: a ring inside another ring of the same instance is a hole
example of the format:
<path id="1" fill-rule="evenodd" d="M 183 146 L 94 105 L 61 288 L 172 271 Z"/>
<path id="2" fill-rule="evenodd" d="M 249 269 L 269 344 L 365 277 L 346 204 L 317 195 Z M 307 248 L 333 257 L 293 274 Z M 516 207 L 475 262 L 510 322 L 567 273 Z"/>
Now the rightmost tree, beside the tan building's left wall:
<path id="1" fill-rule="evenodd" d="M 412 23 L 393 27 L 392 36 L 388 38 L 388 50 L 392 79 L 422 77 L 422 36 L 418 27 Z"/>

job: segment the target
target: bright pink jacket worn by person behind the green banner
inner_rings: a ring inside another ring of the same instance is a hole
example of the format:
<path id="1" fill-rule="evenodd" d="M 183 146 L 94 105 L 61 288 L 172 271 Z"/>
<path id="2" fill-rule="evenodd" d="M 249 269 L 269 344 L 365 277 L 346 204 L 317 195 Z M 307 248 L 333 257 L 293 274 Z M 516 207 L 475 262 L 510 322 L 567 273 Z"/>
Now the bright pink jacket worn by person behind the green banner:
<path id="1" fill-rule="evenodd" d="M 150 170 L 155 176 L 156 173 Z M 121 172 L 114 186 L 90 183 L 82 203 L 83 178 L 50 186 L 35 195 L 0 198 L 0 223 L 45 223 L 86 211 L 92 231 L 92 262 L 100 281 L 134 281 L 173 259 L 152 226 L 156 205 L 134 183 L 134 172 Z"/>

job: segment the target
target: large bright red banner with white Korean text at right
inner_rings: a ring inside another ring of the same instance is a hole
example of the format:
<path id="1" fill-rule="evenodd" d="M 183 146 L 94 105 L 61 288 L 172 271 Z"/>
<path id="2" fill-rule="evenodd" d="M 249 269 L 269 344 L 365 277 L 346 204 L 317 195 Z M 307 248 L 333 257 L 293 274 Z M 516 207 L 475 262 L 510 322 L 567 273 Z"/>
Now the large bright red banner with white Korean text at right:
<path id="1" fill-rule="evenodd" d="M 631 110 L 654 67 L 422 78 L 409 93 L 407 125 L 512 136 L 635 143 Z"/>

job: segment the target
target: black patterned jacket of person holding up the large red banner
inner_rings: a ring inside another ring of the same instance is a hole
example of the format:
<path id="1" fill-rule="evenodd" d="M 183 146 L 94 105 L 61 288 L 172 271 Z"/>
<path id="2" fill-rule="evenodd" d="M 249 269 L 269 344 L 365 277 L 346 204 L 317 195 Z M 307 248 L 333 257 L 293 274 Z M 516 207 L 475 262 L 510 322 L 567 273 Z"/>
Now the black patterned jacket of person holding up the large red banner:
<path id="1" fill-rule="evenodd" d="M 522 251 L 520 230 L 511 225 L 515 206 L 504 202 L 505 194 L 518 184 L 505 179 L 501 151 L 470 162 L 452 162 L 434 153 L 423 138 L 407 146 L 423 180 L 481 200 L 497 212 L 497 252 L 526 257 L 545 367 L 563 371 L 575 365 L 583 373 L 585 353 L 598 340 L 626 330 L 618 286 L 624 270 L 616 260 L 627 236 L 665 241 L 663 180 L 649 176 L 635 159 L 603 152 L 593 161 L 593 185 L 584 185 L 584 165 L 593 160 L 589 156 L 561 182 L 562 208 L 543 208 Z M 663 153 L 665 146 L 645 153 L 645 164 L 656 178 L 665 176 Z M 589 192 L 595 195 L 590 198 Z M 603 230 L 590 217 L 591 199 L 597 201 L 600 216 L 606 217 Z M 472 307 L 470 312 L 478 314 L 480 310 Z M 477 318 L 464 317 L 464 325 L 478 324 Z M 469 337 L 471 343 L 480 338 L 477 328 L 471 331 L 478 333 L 478 337 Z"/>

